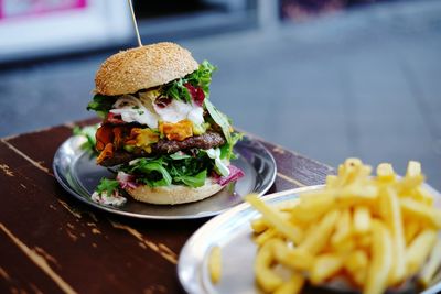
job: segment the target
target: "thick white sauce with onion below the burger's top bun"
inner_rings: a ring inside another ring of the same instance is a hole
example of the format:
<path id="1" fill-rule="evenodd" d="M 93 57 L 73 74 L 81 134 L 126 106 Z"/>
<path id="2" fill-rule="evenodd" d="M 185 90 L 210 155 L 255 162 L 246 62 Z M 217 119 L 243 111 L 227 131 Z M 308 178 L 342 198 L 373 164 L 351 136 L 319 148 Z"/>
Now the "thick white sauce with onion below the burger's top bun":
<path id="1" fill-rule="evenodd" d="M 154 109 L 146 107 L 139 99 L 130 95 L 119 98 L 110 112 L 120 115 L 126 122 L 139 122 L 147 124 L 149 128 L 157 129 L 158 121 L 176 123 L 181 120 L 189 119 L 196 126 L 204 123 L 204 109 L 195 104 L 185 104 L 179 100 L 172 100 L 166 107 L 159 107 L 151 102 Z M 153 110 L 152 109 L 152 110 Z"/>

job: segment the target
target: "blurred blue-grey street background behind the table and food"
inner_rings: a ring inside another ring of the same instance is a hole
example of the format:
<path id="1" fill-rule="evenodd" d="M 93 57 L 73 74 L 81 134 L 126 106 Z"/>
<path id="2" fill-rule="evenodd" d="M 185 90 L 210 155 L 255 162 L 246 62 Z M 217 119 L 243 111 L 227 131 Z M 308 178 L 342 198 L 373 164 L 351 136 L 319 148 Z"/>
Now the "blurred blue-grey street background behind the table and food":
<path id="1" fill-rule="evenodd" d="M 441 1 L 133 4 L 144 44 L 218 66 L 235 126 L 332 166 L 419 160 L 441 188 Z M 0 137 L 93 117 L 97 67 L 135 45 L 126 0 L 0 0 Z"/>

